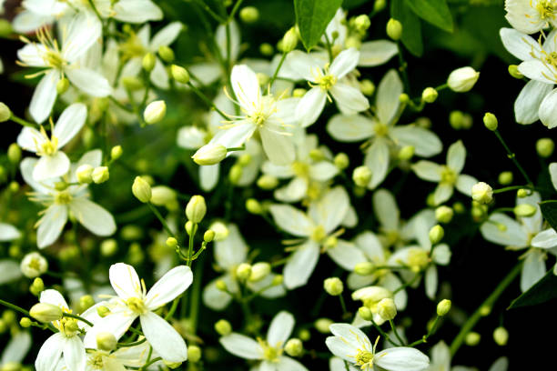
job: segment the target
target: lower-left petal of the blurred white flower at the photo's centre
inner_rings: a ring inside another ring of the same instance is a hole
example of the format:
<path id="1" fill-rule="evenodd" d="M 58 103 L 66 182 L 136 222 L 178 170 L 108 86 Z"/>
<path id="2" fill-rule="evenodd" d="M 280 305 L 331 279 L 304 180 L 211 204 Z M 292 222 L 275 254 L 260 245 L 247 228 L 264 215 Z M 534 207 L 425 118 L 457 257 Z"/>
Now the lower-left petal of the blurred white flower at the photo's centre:
<path id="1" fill-rule="evenodd" d="M 319 246 L 309 240 L 296 248 L 296 252 L 289 257 L 284 266 L 284 285 L 290 290 L 304 286 L 319 260 Z"/>

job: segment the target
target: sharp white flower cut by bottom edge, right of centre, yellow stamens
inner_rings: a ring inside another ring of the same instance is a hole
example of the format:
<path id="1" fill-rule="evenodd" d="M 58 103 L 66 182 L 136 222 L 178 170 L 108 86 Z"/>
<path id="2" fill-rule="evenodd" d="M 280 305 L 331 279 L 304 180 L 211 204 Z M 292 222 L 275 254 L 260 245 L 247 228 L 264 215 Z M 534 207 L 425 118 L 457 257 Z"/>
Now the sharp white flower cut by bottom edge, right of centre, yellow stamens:
<path id="1" fill-rule="evenodd" d="M 357 327 L 348 324 L 333 324 L 330 331 L 334 336 L 326 340 L 330 352 L 358 366 L 361 371 L 372 371 L 380 366 L 389 371 L 421 371 L 430 364 L 428 356 L 419 350 L 396 346 L 377 352 L 377 341 L 371 346 L 370 339 Z M 379 337 L 378 337 L 379 340 Z"/>

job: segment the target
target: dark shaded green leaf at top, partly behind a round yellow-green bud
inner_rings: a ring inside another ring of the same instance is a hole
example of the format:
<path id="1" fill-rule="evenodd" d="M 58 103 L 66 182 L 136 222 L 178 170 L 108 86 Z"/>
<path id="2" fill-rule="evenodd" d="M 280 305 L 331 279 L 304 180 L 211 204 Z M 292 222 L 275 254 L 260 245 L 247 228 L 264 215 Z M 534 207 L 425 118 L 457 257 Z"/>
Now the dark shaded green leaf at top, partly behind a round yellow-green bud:
<path id="1" fill-rule="evenodd" d="M 390 3 L 390 16 L 402 24 L 402 44 L 411 54 L 421 56 L 423 54 L 423 42 L 421 41 L 420 18 L 410 11 L 404 0 L 393 0 Z"/>

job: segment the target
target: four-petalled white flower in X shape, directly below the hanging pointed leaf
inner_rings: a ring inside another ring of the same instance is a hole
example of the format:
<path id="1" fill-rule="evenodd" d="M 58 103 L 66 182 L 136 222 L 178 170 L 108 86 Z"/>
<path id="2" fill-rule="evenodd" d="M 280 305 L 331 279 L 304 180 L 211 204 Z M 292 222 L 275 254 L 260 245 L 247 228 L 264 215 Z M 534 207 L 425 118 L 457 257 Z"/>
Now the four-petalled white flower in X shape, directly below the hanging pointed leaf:
<path id="1" fill-rule="evenodd" d="M 296 107 L 296 118 L 302 126 L 309 126 L 317 121 L 325 102 L 328 98 L 331 100 L 329 93 L 335 98 L 343 114 L 353 115 L 370 107 L 360 89 L 342 80 L 356 68 L 359 58 L 360 52 L 355 48 L 340 52 L 330 65 L 323 65 L 311 55 L 300 51 L 289 53 L 287 61 L 290 68 L 312 86 Z"/>

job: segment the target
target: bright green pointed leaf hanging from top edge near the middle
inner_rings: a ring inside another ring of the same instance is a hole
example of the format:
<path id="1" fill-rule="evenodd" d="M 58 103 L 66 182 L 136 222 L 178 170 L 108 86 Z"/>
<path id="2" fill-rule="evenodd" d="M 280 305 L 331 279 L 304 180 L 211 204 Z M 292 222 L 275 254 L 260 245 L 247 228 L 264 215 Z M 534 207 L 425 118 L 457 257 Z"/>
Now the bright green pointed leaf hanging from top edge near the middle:
<path id="1" fill-rule="evenodd" d="M 329 25 L 342 0 L 294 0 L 296 23 L 306 49 L 319 43 L 321 35 Z"/>

